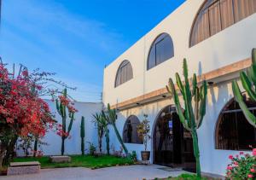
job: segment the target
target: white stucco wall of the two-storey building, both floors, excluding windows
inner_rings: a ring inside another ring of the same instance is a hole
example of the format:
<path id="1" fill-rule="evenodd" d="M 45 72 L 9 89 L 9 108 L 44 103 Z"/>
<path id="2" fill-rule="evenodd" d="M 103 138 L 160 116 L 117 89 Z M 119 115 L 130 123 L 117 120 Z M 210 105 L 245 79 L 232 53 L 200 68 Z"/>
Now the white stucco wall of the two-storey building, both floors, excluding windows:
<path id="1" fill-rule="evenodd" d="M 103 79 L 103 103 L 105 105 L 124 102 L 153 90 L 164 88 L 168 79 L 174 78 L 176 72 L 182 74 L 183 58 L 188 59 L 189 74 L 191 75 L 191 73 L 207 73 L 250 57 L 251 49 L 256 47 L 256 14 L 248 16 L 235 25 L 224 29 L 224 31 L 218 32 L 211 38 L 189 48 L 191 26 L 203 2 L 204 0 L 187 0 L 105 68 Z M 148 51 L 154 39 L 162 32 L 167 32 L 172 37 L 174 57 L 147 71 Z M 114 88 L 116 72 L 119 64 L 124 60 L 131 62 L 133 78 Z M 233 96 L 230 82 L 226 82 L 225 78 L 222 80 L 223 83 L 208 89 L 207 115 L 198 130 L 198 135 L 201 150 L 201 170 L 224 175 L 226 165 L 229 163 L 228 156 L 238 152 L 215 149 L 214 138 L 218 114 Z M 138 119 L 142 121 L 143 113 L 148 114 L 151 129 L 154 130 L 157 114 L 163 107 L 170 104 L 173 104 L 172 100 L 163 100 L 143 106 L 135 105 L 135 107 L 119 112 L 117 124 L 120 134 L 122 134 L 125 120 L 130 115 L 137 115 Z M 111 141 L 119 146 L 113 131 L 111 131 L 111 136 Z M 126 146 L 130 152 L 136 150 L 140 159 L 143 145 L 126 144 Z M 151 147 L 152 162 L 151 142 L 148 143 L 148 147 Z"/>

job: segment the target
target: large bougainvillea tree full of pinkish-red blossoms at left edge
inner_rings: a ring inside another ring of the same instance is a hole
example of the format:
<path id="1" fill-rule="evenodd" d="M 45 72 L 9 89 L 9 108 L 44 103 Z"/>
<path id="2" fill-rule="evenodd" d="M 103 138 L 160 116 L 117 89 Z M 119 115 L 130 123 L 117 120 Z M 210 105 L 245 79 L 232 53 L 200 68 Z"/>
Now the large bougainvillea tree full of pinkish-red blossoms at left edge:
<path id="1" fill-rule="evenodd" d="M 18 74 L 11 73 L 1 61 L 0 167 L 2 163 L 7 165 L 14 156 L 19 137 L 43 137 L 55 123 L 48 104 L 40 96 L 48 75 L 38 71 L 29 73 L 23 66 Z"/>

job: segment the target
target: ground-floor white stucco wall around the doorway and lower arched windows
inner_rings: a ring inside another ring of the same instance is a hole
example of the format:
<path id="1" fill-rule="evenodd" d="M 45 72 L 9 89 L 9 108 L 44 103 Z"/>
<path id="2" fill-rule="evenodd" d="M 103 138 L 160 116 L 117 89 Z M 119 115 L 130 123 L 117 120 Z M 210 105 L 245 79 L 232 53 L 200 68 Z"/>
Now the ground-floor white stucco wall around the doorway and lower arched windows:
<path id="1" fill-rule="evenodd" d="M 215 149 L 215 128 L 218 121 L 218 115 L 227 102 L 233 97 L 231 90 L 231 83 L 218 84 L 218 86 L 210 87 L 207 95 L 207 114 L 198 130 L 199 146 L 201 152 L 201 171 L 210 172 L 215 174 L 224 175 L 226 165 L 230 163 L 228 156 L 230 154 L 238 154 L 239 151 L 232 150 L 219 150 Z M 168 106 L 174 104 L 172 100 L 166 99 L 160 102 L 150 103 L 144 106 L 133 107 L 131 109 L 123 110 L 118 114 L 117 126 L 120 134 L 125 125 L 125 120 L 131 116 L 136 115 L 140 121 L 143 120 L 143 114 L 148 114 L 148 120 L 150 121 L 150 134 L 153 137 L 154 124 L 160 111 Z M 110 141 L 119 148 L 119 142 L 113 131 L 110 130 Z M 131 144 L 125 143 L 129 152 L 136 151 L 137 158 L 141 160 L 141 151 L 143 150 L 143 144 Z M 148 150 L 151 151 L 151 163 L 153 162 L 153 140 L 148 142 Z M 250 152 L 247 152 L 250 153 Z"/>

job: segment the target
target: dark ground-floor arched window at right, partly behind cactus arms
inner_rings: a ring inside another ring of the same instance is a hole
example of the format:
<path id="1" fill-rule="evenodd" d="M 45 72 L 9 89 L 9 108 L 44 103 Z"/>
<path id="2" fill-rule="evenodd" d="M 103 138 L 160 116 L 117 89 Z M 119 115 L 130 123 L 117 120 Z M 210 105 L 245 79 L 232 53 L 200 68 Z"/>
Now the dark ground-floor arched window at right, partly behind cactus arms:
<path id="1" fill-rule="evenodd" d="M 244 95 L 247 107 L 256 115 L 256 102 Z M 216 127 L 216 148 L 249 150 L 256 146 L 256 128 L 250 125 L 241 112 L 238 103 L 232 99 L 218 117 Z"/>

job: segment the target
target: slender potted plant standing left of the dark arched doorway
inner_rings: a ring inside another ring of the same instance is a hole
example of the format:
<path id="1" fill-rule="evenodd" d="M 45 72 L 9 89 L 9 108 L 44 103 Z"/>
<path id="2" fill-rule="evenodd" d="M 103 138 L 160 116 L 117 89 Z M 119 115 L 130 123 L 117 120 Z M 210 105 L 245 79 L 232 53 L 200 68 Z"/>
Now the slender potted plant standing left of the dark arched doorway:
<path id="1" fill-rule="evenodd" d="M 147 146 L 148 146 L 148 140 L 151 138 L 149 136 L 149 121 L 148 121 L 148 115 L 144 114 L 144 119 L 143 122 L 140 125 L 137 125 L 137 133 L 138 136 L 140 136 L 143 139 L 143 144 L 145 147 L 145 150 L 141 152 L 142 155 L 142 160 L 149 160 L 150 157 L 150 151 L 147 151 Z"/>

